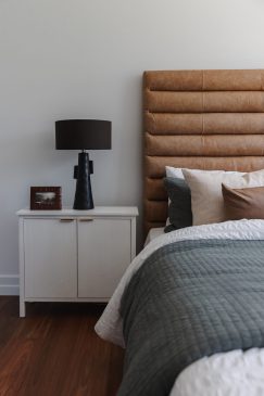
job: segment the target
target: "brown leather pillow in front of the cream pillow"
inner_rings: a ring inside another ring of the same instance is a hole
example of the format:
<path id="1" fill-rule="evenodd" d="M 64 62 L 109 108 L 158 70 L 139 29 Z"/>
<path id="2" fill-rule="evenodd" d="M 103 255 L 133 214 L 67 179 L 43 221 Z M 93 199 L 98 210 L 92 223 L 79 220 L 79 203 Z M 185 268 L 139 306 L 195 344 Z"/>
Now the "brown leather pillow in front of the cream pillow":
<path id="1" fill-rule="evenodd" d="M 264 187 L 230 189 L 222 184 L 226 220 L 264 219 Z"/>

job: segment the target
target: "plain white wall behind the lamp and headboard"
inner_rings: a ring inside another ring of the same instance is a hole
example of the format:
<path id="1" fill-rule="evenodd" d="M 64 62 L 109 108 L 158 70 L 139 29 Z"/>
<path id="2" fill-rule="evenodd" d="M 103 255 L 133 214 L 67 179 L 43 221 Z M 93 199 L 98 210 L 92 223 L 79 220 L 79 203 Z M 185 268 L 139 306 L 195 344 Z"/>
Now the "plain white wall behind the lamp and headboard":
<path id="1" fill-rule="evenodd" d="M 77 152 L 54 150 L 54 120 L 111 119 L 95 202 L 140 205 L 142 72 L 263 68 L 263 0 L 0 0 L 0 293 L 17 282 L 29 186 L 73 202 Z"/>

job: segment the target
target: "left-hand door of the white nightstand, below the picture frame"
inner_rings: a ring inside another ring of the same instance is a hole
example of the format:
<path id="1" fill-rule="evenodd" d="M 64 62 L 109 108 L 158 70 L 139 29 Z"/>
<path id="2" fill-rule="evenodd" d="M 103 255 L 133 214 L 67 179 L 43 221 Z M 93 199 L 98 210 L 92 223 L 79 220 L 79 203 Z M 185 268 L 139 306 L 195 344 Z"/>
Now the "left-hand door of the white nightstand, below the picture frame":
<path id="1" fill-rule="evenodd" d="M 25 297 L 77 297 L 76 220 L 25 219 Z"/>

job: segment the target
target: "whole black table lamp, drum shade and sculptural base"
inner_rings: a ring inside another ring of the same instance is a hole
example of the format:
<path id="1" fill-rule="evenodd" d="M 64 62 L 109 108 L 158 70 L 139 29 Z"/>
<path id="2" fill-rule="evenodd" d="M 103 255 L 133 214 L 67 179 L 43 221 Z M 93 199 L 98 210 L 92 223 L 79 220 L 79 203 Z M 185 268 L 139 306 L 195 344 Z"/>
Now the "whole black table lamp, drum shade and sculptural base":
<path id="1" fill-rule="evenodd" d="M 93 174 L 92 161 L 86 150 L 111 149 L 111 122 L 99 119 L 63 119 L 55 122 L 56 150 L 81 150 L 78 165 L 74 167 L 77 179 L 74 209 L 92 209 L 90 175 Z"/>

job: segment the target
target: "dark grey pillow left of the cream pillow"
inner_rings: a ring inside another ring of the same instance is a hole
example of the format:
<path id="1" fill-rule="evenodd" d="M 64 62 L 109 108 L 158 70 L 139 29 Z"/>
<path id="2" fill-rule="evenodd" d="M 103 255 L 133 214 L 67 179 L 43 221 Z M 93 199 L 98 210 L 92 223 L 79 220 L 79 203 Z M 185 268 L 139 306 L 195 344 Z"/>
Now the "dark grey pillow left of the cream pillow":
<path id="1" fill-rule="evenodd" d="M 180 228 L 192 226 L 191 192 L 184 179 L 176 177 L 164 178 L 171 204 L 168 205 L 168 219 L 164 232 L 171 232 Z"/>

